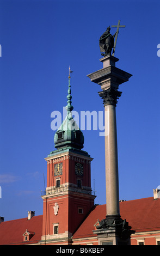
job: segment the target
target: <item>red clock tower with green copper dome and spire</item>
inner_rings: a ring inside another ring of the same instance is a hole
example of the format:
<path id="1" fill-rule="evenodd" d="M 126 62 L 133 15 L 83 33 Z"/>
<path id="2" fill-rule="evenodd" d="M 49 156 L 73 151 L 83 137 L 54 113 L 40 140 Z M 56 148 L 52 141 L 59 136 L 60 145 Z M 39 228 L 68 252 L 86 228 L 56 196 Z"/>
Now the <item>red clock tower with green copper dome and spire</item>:
<path id="1" fill-rule="evenodd" d="M 72 234 L 94 206 L 90 163 L 93 158 L 82 150 L 84 136 L 72 117 L 71 86 L 67 95 L 67 115 L 54 136 L 47 161 L 41 244 L 71 245 Z"/>

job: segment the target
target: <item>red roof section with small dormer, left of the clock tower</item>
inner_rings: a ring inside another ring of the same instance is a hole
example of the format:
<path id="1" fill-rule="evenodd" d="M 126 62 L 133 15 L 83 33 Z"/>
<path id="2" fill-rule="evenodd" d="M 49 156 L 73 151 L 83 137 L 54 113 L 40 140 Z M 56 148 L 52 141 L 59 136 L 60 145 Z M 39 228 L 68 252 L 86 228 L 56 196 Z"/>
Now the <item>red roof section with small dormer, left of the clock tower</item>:
<path id="1" fill-rule="evenodd" d="M 42 215 L 34 216 L 30 220 L 28 218 L 20 218 L 19 220 L 4 221 L 0 224 L 0 245 L 25 245 L 29 243 L 37 243 L 41 240 L 42 235 Z M 27 242 L 23 242 L 23 234 L 29 230 L 34 235 Z"/>

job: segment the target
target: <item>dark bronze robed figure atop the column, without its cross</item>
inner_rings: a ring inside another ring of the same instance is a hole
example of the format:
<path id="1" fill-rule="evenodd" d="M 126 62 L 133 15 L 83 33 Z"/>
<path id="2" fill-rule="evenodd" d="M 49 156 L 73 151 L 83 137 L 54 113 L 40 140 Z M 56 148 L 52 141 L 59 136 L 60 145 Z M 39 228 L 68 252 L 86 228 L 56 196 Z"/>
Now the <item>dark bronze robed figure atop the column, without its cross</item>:
<path id="1" fill-rule="evenodd" d="M 115 32 L 114 35 L 110 34 L 110 26 L 107 28 L 107 30 L 101 35 L 100 37 L 100 50 L 102 53 L 102 56 L 107 56 L 108 54 L 111 54 L 112 48 L 114 46 L 114 37 L 117 32 Z"/>

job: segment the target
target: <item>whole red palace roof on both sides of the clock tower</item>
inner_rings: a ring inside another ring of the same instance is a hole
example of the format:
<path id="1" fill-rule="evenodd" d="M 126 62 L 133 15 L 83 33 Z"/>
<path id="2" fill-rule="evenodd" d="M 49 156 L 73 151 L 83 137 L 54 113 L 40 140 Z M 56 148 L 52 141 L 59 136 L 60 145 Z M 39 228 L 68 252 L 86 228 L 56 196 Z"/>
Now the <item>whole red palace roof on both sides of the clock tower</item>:
<path id="1" fill-rule="evenodd" d="M 153 197 L 120 202 L 121 218 L 131 225 L 137 232 L 160 230 L 160 199 Z M 21 218 L 14 221 L 0 223 L 0 245 L 24 245 L 37 243 L 42 235 L 42 215 L 34 216 L 30 220 Z M 93 234 L 97 219 L 106 217 L 106 205 L 96 205 L 81 226 L 73 234 L 73 239 L 96 236 Z M 27 242 L 23 242 L 26 229 L 35 233 Z"/>

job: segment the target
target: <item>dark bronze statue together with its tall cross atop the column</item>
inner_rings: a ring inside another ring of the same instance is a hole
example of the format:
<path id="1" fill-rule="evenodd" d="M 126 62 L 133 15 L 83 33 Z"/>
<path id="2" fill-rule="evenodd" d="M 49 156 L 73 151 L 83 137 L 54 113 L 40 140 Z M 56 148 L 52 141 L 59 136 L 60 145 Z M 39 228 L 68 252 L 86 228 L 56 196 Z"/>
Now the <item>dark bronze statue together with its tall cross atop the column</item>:
<path id="1" fill-rule="evenodd" d="M 112 56 L 114 56 L 115 53 L 115 46 L 116 46 L 116 41 L 118 38 L 118 33 L 119 33 L 119 28 L 125 28 L 126 26 L 120 26 L 120 20 L 118 21 L 117 26 L 112 26 L 116 27 L 116 32 L 114 35 L 110 34 L 110 26 L 107 28 L 106 32 L 104 32 L 99 40 L 99 45 L 100 45 L 100 50 L 101 50 L 101 55 L 102 56 L 107 56 L 108 54 L 111 54 L 112 48 L 113 48 L 113 53 Z M 114 40 L 115 38 L 115 40 Z M 103 53 L 105 52 L 105 53 Z"/>

